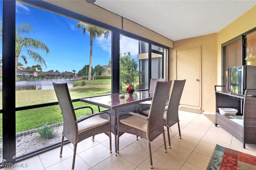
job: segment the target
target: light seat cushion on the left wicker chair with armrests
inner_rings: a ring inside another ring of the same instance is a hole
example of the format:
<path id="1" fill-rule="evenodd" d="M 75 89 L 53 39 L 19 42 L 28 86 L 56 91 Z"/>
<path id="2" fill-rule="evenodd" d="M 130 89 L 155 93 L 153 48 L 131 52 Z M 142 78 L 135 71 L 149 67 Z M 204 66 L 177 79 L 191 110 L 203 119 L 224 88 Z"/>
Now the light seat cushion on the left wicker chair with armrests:
<path id="1" fill-rule="evenodd" d="M 78 134 L 88 131 L 94 127 L 98 127 L 108 123 L 108 119 L 102 119 L 98 116 L 93 116 L 77 123 Z"/>

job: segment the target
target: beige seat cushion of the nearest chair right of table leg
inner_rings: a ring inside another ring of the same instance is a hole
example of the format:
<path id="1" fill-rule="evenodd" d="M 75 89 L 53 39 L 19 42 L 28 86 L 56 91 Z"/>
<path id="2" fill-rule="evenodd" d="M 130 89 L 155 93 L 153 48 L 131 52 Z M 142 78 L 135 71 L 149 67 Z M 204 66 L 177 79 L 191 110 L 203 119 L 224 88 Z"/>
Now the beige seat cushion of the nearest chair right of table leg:
<path id="1" fill-rule="evenodd" d="M 131 115 L 125 119 L 121 119 L 120 123 L 134 127 L 136 129 L 140 129 L 144 132 L 147 132 L 148 121 L 146 121 L 138 116 Z"/>

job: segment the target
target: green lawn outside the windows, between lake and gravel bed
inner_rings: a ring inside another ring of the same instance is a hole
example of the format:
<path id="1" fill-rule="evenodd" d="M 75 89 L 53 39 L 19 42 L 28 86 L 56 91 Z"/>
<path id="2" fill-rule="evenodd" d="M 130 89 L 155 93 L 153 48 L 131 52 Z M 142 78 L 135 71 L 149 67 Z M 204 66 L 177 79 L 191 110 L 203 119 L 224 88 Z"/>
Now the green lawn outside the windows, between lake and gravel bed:
<path id="1" fill-rule="evenodd" d="M 82 81 L 78 80 L 74 84 L 82 84 Z M 104 95 L 111 92 L 111 80 L 92 80 L 92 86 L 77 86 L 70 88 L 70 96 L 72 99 L 85 98 L 89 96 Z M 2 92 L 0 92 L 2 96 Z M 29 106 L 35 104 L 43 104 L 48 102 L 56 102 L 57 98 L 54 90 L 21 90 L 16 91 L 16 107 Z M 2 106 L 2 98 L 0 98 L 0 106 Z M 94 113 L 98 112 L 98 107 L 84 102 L 74 102 L 74 107 L 91 106 Z M 103 111 L 104 108 L 101 108 Z M 82 117 L 90 114 L 90 109 L 76 110 L 76 117 Z M 48 125 L 62 122 L 62 115 L 60 114 L 60 107 L 48 106 L 40 107 L 36 109 L 28 109 L 23 111 L 16 111 L 16 133 L 42 127 L 42 123 L 48 123 Z M 2 114 L 0 114 L 0 137 L 2 136 Z"/>

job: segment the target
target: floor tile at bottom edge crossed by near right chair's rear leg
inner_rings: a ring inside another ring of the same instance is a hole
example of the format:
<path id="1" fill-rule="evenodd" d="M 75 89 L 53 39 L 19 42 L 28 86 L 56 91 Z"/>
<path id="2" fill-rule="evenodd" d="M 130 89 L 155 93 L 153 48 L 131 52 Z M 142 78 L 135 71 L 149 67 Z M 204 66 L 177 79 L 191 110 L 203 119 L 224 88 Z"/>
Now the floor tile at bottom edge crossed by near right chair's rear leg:
<path id="1" fill-rule="evenodd" d="M 177 162 L 174 162 L 173 160 L 170 160 L 157 153 L 152 155 L 152 162 L 154 170 L 180 170 L 182 167 L 181 164 L 178 164 Z M 138 167 L 142 170 L 150 170 L 149 158 Z"/>

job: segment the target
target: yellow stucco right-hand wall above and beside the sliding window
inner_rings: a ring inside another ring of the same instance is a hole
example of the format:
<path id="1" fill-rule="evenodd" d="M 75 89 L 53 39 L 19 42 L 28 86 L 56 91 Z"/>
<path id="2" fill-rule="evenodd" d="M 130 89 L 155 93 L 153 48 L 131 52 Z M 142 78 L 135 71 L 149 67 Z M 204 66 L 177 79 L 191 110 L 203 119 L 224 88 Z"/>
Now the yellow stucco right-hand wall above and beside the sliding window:
<path id="1" fill-rule="evenodd" d="M 256 27 L 256 6 L 252 7 L 242 16 L 218 32 L 218 84 L 221 84 L 222 75 L 222 48 L 221 45 L 227 41 L 242 35 Z"/>

